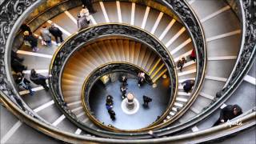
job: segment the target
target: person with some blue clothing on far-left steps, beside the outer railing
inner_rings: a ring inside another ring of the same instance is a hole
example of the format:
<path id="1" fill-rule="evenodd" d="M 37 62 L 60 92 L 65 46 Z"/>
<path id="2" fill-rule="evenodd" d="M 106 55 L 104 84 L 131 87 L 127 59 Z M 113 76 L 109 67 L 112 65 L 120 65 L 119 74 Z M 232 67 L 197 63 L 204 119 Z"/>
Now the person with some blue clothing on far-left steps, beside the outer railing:
<path id="1" fill-rule="evenodd" d="M 30 91 L 30 95 L 34 95 L 34 91 L 32 91 L 32 88 L 30 86 L 31 82 L 29 80 L 27 80 L 26 78 L 24 78 L 22 73 L 18 73 L 17 74 L 16 83 L 18 84 L 18 86 L 21 89 L 29 90 Z"/>

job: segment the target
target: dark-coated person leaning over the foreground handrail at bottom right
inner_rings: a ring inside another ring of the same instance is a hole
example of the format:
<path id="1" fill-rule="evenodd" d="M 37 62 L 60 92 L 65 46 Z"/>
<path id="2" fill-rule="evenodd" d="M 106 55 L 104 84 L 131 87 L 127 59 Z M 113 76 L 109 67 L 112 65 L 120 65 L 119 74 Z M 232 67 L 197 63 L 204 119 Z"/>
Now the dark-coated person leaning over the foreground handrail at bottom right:
<path id="1" fill-rule="evenodd" d="M 227 122 L 238 115 L 242 114 L 242 109 L 238 105 L 228 105 L 221 110 L 218 121 L 214 123 L 214 126 L 218 126 L 221 123 Z"/>

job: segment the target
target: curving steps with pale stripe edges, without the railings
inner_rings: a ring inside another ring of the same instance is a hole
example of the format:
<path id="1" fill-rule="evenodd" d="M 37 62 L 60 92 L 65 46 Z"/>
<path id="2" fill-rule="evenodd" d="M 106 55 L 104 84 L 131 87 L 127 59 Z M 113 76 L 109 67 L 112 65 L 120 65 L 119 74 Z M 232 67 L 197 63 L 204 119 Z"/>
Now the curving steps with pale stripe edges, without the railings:
<path id="1" fill-rule="evenodd" d="M 210 103 L 215 98 L 216 92 L 218 92 L 218 90 L 221 90 L 222 87 L 225 85 L 225 82 L 227 81 L 231 70 L 233 69 L 234 62 L 237 58 L 238 50 L 240 47 L 239 42 L 241 37 L 241 30 L 239 26 L 239 21 L 238 18 L 236 18 L 234 12 L 230 10 L 230 6 L 228 6 L 226 2 L 213 0 L 190 0 L 188 2 L 190 3 L 190 6 L 194 9 L 195 14 L 197 14 L 198 18 L 200 19 L 206 35 L 208 56 L 206 79 L 203 83 L 203 87 L 198 98 L 196 98 L 195 102 L 191 106 L 189 106 L 189 110 L 186 111 L 186 113 L 180 119 L 178 119 L 178 122 L 174 122 L 172 125 L 170 125 L 170 127 L 182 125 L 182 122 L 186 122 L 191 118 L 197 117 L 197 115 L 200 114 L 205 107 L 210 106 Z M 207 7 L 207 9 L 202 9 L 202 7 Z M 94 8 L 97 10 L 97 12 L 90 16 L 90 25 L 106 22 L 123 22 L 141 27 L 142 29 L 147 30 L 151 34 L 154 34 L 154 36 L 158 38 L 168 50 L 170 50 L 170 54 L 172 54 L 175 62 L 178 62 L 178 58 L 180 58 L 181 56 L 186 56 L 187 60 L 190 60 L 189 55 L 194 46 L 191 42 L 189 34 L 186 33 L 186 29 L 182 26 L 181 23 L 176 21 L 174 18 L 171 18 L 167 14 L 163 14 L 162 12 L 154 10 L 153 8 L 150 8 L 148 6 L 141 6 L 135 4 L 134 2 L 96 2 L 94 3 Z M 50 23 L 54 22 L 56 26 L 58 26 L 62 30 L 64 38 L 67 38 L 68 36 L 74 34 L 77 31 L 75 16 L 78 14 L 79 10 L 81 10 L 81 7 L 65 11 L 65 13 L 59 14 L 57 17 L 50 19 L 45 24 L 47 26 L 50 26 Z M 232 25 L 230 25 L 230 23 L 232 23 Z M 38 34 L 38 30 L 35 30 L 35 34 Z M 136 42 L 127 42 L 127 40 L 123 41 L 122 43 L 122 48 L 124 51 L 128 50 L 128 48 L 125 47 L 128 46 L 128 44 L 132 48 L 133 46 L 135 47 L 139 45 L 136 45 Z M 152 71 L 150 75 L 155 82 L 158 80 L 158 78 L 161 77 L 162 74 L 164 74 L 163 71 L 165 69 L 161 67 L 162 64 L 156 65 L 158 61 L 156 61 L 156 58 L 154 57 L 154 54 L 152 54 L 152 52 L 150 53 L 150 51 L 146 51 L 142 47 L 138 46 L 141 48 L 141 50 L 135 48 L 134 50 L 138 50 L 142 52 L 142 54 L 138 55 L 138 61 L 134 61 L 133 58 L 130 58 L 130 56 L 132 55 L 129 55 L 129 57 L 125 55 L 127 53 L 116 54 L 104 51 L 106 50 L 105 48 L 110 47 L 110 45 L 112 48 L 112 52 L 117 51 L 117 46 L 113 47 L 113 45 L 118 45 L 118 42 L 105 41 L 99 42 L 98 44 L 94 44 L 94 46 L 92 46 L 93 50 L 99 51 L 99 54 L 94 54 L 91 56 L 93 57 L 92 59 L 90 59 L 92 61 L 88 63 L 90 66 L 92 66 L 92 68 L 102 64 L 103 61 L 111 62 L 111 60 L 129 60 L 136 65 L 142 66 L 149 73 L 150 71 Z M 38 53 L 33 53 L 25 46 L 22 46 L 22 48 L 18 50 L 17 53 L 19 56 L 25 58 L 24 63 L 26 64 L 26 66 L 28 66 L 28 70 L 24 71 L 26 77 L 29 76 L 28 74 L 30 74 L 30 69 L 32 68 L 38 70 L 39 73 L 47 74 L 48 67 L 50 65 L 50 58 L 52 58 L 52 55 L 54 54 L 54 51 L 56 49 L 57 46 L 54 45 L 51 47 L 39 46 Z M 72 60 L 73 62 L 76 62 L 76 64 L 84 66 L 84 63 L 79 62 L 78 60 L 80 60 L 80 58 L 83 58 L 83 62 L 88 62 L 86 59 L 84 59 L 84 54 L 86 53 L 83 53 L 84 51 L 82 50 L 80 52 L 80 54 L 78 53 L 79 59 L 73 58 Z M 93 52 L 91 54 L 93 54 Z M 104 54 L 107 54 L 107 57 L 105 57 Z M 86 58 L 90 58 L 90 56 L 87 55 Z M 148 59 L 148 61 L 146 61 L 146 59 Z M 78 65 L 74 65 L 74 63 L 70 64 L 70 66 L 73 66 L 76 69 L 80 67 Z M 154 66 L 155 70 L 152 70 Z M 254 97 L 243 97 L 241 100 L 241 94 L 255 94 L 255 92 L 251 93 L 255 86 L 254 67 L 250 71 L 249 75 L 246 76 L 245 82 L 242 82 L 242 85 L 234 93 L 234 96 L 232 96 L 230 100 L 225 102 L 226 104 L 238 103 L 245 111 L 250 110 L 250 108 L 255 106 Z M 70 77 L 68 71 L 69 70 L 66 70 L 63 74 L 63 78 L 66 78 L 66 80 L 64 81 L 70 81 L 70 78 L 71 81 L 72 79 L 73 81 L 77 80 L 76 77 Z M 74 71 L 72 71 L 72 73 L 74 73 Z M 81 73 L 78 72 L 78 74 Z M 181 83 L 186 79 L 195 78 L 195 76 L 195 62 L 188 61 L 184 66 L 183 71 L 178 72 L 178 82 Z M 83 81 L 84 80 L 81 80 L 81 82 Z M 64 116 L 64 114 L 62 114 L 58 110 L 57 106 L 54 105 L 54 101 L 52 100 L 50 93 L 43 90 L 41 86 L 33 85 L 33 87 L 36 91 L 36 94 L 33 97 L 30 97 L 26 90 L 20 91 L 20 95 L 22 96 L 22 99 L 26 102 L 26 104 L 30 106 L 32 110 L 34 110 L 34 112 L 39 114 L 43 119 L 46 120 L 46 122 L 50 122 L 52 126 L 58 127 L 59 130 L 74 134 L 87 134 L 87 132 L 80 130 L 77 126 L 74 126 L 74 124 L 72 124 Z M 80 91 L 73 89 L 73 92 L 75 92 L 75 95 L 79 95 L 78 92 Z M 69 93 L 72 93 L 72 90 L 66 90 L 66 94 Z M 63 91 L 63 94 L 65 95 L 65 91 Z M 178 110 L 180 110 L 181 107 L 186 106 L 186 102 L 188 102 L 189 100 L 190 94 L 184 93 L 182 90 L 182 86 L 179 86 L 176 104 L 174 105 L 172 111 L 170 112 L 170 115 L 167 116 L 166 119 L 171 118 L 174 114 L 178 112 Z M 71 110 L 78 114 L 78 116 L 81 115 L 81 119 L 82 121 L 86 122 L 86 125 L 98 129 L 94 126 L 94 123 L 90 122 L 90 120 L 86 118 L 85 115 L 82 113 L 83 110 L 81 106 L 79 106 L 79 102 L 76 101 L 76 99 L 70 99 L 69 102 L 70 104 L 68 104 L 68 106 L 70 106 Z M 214 121 L 218 118 L 218 114 L 218 111 L 216 111 L 209 118 L 207 118 L 206 121 L 198 123 L 197 126 L 194 126 L 191 130 L 183 131 L 183 133 L 186 134 L 209 128 L 210 125 L 214 123 Z M 28 142 L 26 141 L 28 138 L 24 134 L 22 134 L 22 132 L 24 132 L 25 130 L 31 131 L 30 128 L 28 128 L 26 125 L 22 125 L 22 122 L 14 120 L 16 118 L 13 118 L 13 116 L 9 114 L 9 112 L 3 110 L 2 106 L 1 116 L 1 122 L 6 123 L 4 128 L 1 127 L 1 131 L 3 131 L 1 133 L 1 143 L 16 142 L 15 139 L 20 139 L 23 143 Z M 13 121 L 9 121 L 10 119 L 13 119 Z M 31 137 L 29 139 L 30 142 L 33 143 L 37 142 L 38 138 L 43 138 L 42 142 L 56 142 L 46 137 L 45 135 L 38 133 L 31 133 Z"/>

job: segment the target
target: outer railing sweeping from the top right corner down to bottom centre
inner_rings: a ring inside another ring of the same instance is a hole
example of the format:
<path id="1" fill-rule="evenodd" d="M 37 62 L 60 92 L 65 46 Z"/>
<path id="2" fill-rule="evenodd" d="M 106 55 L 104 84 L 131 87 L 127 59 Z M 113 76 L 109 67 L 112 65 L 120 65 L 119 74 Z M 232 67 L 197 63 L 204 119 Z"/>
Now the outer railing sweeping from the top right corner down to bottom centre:
<path id="1" fill-rule="evenodd" d="M 255 18 L 252 17 L 252 15 L 255 14 L 255 9 L 252 2 L 249 4 L 248 2 L 239 0 L 238 4 L 240 5 L 239 7 L 241 8 L 243 17 L 242 44 L 236 65 L 234 66 L 235 71 L 230 74 L 227 86 L 216 94 L 217 98 L 215 98 L 211 105 L 206 107 L 202 113 L 198 114 L 194 118 L 190 118 L 190 120 L 186 122 L 182 122 L 182 124 L 162 129 L 163 134 L 177 133 L 178 131 L 189 128 L 190 126 L 194 126 L 198 122 L 202 122 L 202 120 L 212 114 L 215 110 L 218 110 L 218 108 L 222 106 L 228 98 L 230 98 L 231 94 L 233 94 L 242 83 L 244 76 L 248 73 L 250 67 L 253 66 L 256 59 L 256 24 L 254 23 Z"/>

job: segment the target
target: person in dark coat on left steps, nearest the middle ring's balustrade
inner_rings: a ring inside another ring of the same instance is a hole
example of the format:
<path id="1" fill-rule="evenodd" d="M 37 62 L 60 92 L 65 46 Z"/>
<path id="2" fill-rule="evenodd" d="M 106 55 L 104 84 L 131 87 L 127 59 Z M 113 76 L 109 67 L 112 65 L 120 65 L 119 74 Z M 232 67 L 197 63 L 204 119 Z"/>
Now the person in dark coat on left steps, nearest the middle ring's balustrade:
<path id="1" fill-rule="evenodd" d="M 32 69 L 30 72 L 30 80 L 37 85 L 41 85 L 46 91 L 49 90 L 49 87 L 46 84 L 46 79 L 49 77 L 45 77 L 42 74 L 37 74 L 37 72 Z"/>

